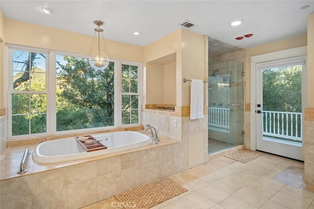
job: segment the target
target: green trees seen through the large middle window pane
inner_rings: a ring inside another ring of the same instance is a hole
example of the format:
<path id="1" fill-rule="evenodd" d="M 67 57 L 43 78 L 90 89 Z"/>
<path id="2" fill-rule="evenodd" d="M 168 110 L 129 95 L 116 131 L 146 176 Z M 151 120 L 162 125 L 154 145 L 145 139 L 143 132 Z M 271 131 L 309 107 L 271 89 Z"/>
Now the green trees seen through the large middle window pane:
<path id="1" fill-rule="evenodd" d="M 114 125 L 114 63 L 94 71 L 87 59 L 63 59 L 57 72 L 57 131 Z"/>

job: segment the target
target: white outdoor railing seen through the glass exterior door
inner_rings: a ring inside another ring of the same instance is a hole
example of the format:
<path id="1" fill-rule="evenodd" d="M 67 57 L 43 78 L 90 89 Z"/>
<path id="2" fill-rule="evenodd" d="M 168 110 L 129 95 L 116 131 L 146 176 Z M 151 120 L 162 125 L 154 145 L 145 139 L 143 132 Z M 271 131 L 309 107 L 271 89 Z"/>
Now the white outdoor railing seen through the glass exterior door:
<path id="1" fill-rule="evenodd" d="M 263 110 L 263 136 L 302 141 L 302 113 Z"/>

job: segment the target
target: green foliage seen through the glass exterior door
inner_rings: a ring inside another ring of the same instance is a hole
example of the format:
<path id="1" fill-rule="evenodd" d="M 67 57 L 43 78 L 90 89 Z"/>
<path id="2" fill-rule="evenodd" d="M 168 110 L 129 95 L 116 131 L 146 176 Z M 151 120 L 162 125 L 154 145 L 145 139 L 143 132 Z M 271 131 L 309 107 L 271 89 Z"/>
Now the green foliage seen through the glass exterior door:
<path id="1" fill-rule="evenodd" d="M 302 66 L 264 70 L 263 110 L 302 112 Z"/>

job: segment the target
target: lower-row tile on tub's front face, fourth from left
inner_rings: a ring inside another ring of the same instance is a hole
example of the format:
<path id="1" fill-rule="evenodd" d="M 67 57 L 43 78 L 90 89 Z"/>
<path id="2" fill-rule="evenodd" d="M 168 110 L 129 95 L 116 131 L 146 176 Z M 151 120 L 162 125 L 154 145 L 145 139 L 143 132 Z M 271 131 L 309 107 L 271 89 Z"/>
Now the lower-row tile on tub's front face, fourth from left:
<path id="1" fill-rule="evenodd" d="M 97 201 L 121 192 L 121 171 L 97 177 Z"/>

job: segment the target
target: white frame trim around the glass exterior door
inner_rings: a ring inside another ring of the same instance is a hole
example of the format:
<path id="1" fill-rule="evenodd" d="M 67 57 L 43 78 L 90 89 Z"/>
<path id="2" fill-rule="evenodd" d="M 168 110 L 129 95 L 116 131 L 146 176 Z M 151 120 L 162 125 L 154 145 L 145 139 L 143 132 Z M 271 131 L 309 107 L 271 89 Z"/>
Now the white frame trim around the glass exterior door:
<path id="1" fill-rule="evenodd" d="M 267 66 L 267 63 L 268 65 L 270 64 L 269 66 L 271 66 L 271 64 L 273 64 L 271 62 L 273 61 L 276 61 L 278 63 L 280 63 L 281 62 L 280 60 L 283 60 L 283 59 L 290 59 L 292 60 L 292 62 L 300 61 L 299 58 L 296 58 L 295 60 L 293 60 L 293 58 L 304 56 L 304 55 L 307 55 L 307 46 L 300 46 L 296 48 L 290 48 L 286 50 L 275 51 L 271 53 L 266 53 L 266 54 L 261 54 L 261 55 L 250 57 L 251 58 L 251 136 L 250 136 L 251 147 L 250 148 L 252 150 L 256 150 L 256 123 L 255 123 L 256 122 L 256 113 L 255 113 L 255 110 L 256 110 L 256 85 L 255 85 L 256 71 L 259 70 L 259 68 L 262 69 L 263 67 Z M 305 95 L 307 95 L 307 89 L 303 88 L 303 85 L 302 85 L 302 92 L 305 93 Z M 302 106 L 304 107 L 306 103 L 307 101 L 302 101 Z"/>

